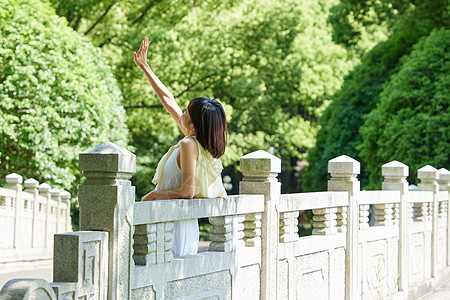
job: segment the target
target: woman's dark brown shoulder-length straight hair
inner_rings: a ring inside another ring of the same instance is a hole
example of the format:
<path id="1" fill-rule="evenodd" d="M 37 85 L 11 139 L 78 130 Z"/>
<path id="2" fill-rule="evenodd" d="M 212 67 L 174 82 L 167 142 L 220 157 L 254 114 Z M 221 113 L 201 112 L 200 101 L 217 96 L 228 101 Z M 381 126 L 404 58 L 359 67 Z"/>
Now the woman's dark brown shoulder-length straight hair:
<path id="1" fill-rule="evenodd" d="M 197 140 L 214 158 L 225 153 L 227 120 L 222 105 L 214 99 L 197 97 L 188 105 Z"/>

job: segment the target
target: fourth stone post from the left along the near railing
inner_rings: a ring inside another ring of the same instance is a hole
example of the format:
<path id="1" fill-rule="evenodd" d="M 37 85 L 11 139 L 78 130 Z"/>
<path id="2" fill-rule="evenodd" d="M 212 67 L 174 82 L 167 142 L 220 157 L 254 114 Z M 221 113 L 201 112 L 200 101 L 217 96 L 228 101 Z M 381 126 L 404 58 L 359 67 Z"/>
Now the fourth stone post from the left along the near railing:
<path id="1" fill-rule="evenodd" d="M 384 191 L 400 191 L 399 206 L 399 243 L 398 243 L 398 289 L 405 293 L 408 292 L 408 182 L 406 177 L 409 175 L 409 167 L 399 161 L 391 161 L 382 166 L 382 175 L 384 181 L 382 189 Z"/>

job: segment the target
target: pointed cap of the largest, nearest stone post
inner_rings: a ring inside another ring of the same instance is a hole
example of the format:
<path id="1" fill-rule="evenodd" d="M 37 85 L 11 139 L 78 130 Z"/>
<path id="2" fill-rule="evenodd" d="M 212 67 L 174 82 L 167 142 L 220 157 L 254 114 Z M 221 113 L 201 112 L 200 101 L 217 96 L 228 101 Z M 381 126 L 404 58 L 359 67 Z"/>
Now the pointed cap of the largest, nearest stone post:
<path id="1" fill-rule="evenodd" d="M 111 142 L 80 153 L 79 169 L 84 172 L 136 172 L 136 155 Z"/>

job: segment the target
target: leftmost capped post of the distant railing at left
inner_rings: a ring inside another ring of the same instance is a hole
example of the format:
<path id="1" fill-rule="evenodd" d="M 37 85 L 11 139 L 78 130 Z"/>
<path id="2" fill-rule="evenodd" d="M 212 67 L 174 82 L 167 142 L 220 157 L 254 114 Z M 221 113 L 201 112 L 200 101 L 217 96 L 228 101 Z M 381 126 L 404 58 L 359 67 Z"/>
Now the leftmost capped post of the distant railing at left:
<path id="1" fill-rule="evenodd" d="M 21 236 L 22 234 L 22 214 L 24 210 L 23 198 L 22 198 L 22 182 L 23 178 L 19 174 L 12 173 L 6 176 L 6 188 L 14 190 L 14 208 L 15 208 L 15 218 L 14 218 L 14 248 L 19 248 L 21 246 Z"/>

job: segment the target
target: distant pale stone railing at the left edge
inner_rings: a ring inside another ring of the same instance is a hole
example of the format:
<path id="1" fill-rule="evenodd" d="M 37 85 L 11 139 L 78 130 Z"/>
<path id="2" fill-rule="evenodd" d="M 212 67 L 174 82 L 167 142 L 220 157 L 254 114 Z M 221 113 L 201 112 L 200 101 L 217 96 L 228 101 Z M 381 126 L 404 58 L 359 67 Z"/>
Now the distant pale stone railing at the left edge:
<path id="1" fill-rule="evenodd" d="M 51 260 L 53 235 L 72 231 L 70 193 L 34 179 L 6 176 L 0 188 L 0 269 Z"/>

